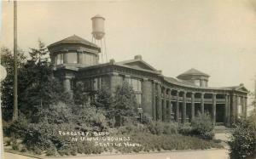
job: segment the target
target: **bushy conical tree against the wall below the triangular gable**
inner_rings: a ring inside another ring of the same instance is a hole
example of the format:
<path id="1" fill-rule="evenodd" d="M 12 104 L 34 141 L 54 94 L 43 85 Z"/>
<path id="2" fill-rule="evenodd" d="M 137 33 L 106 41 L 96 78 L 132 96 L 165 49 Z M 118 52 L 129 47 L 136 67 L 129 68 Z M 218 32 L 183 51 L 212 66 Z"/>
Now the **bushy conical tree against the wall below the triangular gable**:
<path id="1" fill-rule="evenodd" d="M 124 82 L 116 88 L 113 97 L 113 106 L 110 108 L 115 116 L 116 126 L 121 126 L 125 118 L 134 119 L 137 116 L 136 94 L 128 82 Z"/>

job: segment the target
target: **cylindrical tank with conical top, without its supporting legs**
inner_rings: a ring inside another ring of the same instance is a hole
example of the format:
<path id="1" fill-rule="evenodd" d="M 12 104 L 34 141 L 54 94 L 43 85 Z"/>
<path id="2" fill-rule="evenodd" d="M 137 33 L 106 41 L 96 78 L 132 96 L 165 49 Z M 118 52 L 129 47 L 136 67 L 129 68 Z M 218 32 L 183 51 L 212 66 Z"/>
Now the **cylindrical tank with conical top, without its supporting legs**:
<path id="1" fill-rule="evenodd" d="M 91 18 L 92 20 L 92 36 L 96 40 L 101 40 L 102 37 L 105 35 L 104 31 L 104 21 L 105 18 L 103 18 L 101 15 L 97 14 L 96 16 Z"/>

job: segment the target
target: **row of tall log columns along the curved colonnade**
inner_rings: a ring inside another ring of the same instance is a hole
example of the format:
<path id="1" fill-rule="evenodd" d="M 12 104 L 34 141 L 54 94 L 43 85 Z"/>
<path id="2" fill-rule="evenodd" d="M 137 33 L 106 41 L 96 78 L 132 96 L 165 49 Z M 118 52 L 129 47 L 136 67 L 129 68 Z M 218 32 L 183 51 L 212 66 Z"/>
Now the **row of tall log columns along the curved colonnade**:
<path id="1" fill-rule="evenodd" d="M 187 92 L 185 90 L 173 90 L 170 88 L 164 88 L 160 84 L 160 82 L 154 81 L 152 84 L 152 116 L 154 120 L 158 121 L 164 121 L 164 122 L 169 122 L 172 120 L 172 91 L 175 91 L 176 94 L 176 99 L 174 102 L 175 105 L 175 112 L 174 112 L 174 119 L 176 122 L 188 122 L 187 121 L 187 94 L 191 94 L 191 111 L 189 112 L 189 121 L 193 121 L 195 119 L 195 103 L 200 102 L 200 110 L 201 113 L 204 114 L 205 112 L 205 102 L 209 102 L 209 100 L 205 99 L 205 94 L 208 93 L 195 93 L 195 92 Z M 182 92 L 182 94 L 180 94 Z M 201 100 L 198 101 L 195 99 L 195 94 L 201 94 Z M 212 94 L 212 122 L 213 124 L 218 121 L 217 114 L 221 109 L 219 108 L 217 110 L 217 94 L 216 93 L 211 93 Z M 180 95 L 182 95 L 182 100 L 180 98 Z M 225 126 L 230 127 L 230 124 L 235 121 L 236 117 L 238 116 L 246 116 L 247 115 L 247 97 L 245 95 L 241 95 L 238 97 L 237 94 L 220 94 L 224 98 L 221 101 L 222 105 L 224 106 L 223 111 L 223 122 Z M 182 105 L 180 105 L 180 102 L 182 102 Z M 222 106 L 218 105 L 218 106 Z M 241 106 L 241 107 L 239 107 Z M 182 111 L 180 112 L 180 109 Z M 239 109 L 239 110 L 238 110 Z M 149 111 L 148 111 L 149 112 Z M 222 116 L 221 116 L 222 117 Z M 180 118 L 182 119 L 180 121 Z"/>

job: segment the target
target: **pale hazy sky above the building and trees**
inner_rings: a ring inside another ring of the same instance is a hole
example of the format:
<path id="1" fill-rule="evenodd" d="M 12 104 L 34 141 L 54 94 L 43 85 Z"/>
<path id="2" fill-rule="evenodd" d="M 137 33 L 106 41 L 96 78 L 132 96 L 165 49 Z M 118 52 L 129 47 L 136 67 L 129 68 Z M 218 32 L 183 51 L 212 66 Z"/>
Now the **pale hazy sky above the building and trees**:
<path id="1" fill-rule="evenodd" d="M 255 1 L 254 1 L 255 2 Z M 253 0 L 115 0 L 18 2 L 18 45 L 49 45 L 73 34 L 91 41 L 91 20 L 106 18 L 109 59 L 143 60 L 177 77 L 190 68 L 209 74 L 210 87 L 253 91 L 256 74 Z M 13 46 L 13 3 L 2 3 L 1 46 Z"/>

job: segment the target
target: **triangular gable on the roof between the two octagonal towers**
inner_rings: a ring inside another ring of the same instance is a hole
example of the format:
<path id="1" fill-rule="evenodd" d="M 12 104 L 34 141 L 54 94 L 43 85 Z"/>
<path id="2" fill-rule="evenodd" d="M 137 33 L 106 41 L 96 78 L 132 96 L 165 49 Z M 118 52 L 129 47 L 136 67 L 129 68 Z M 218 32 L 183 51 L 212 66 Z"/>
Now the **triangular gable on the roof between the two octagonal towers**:
<path id="1" fill-rule="evenodd" d="M 140 55 L 135 56 L 134 60 L 125 60 L 117 62 L 119 65 L 128 65 L 135 69 L 143 69 L 149 71 L 157 71 L 152 65 L 149 65 L 147 62 L 142 60 Z"/>

